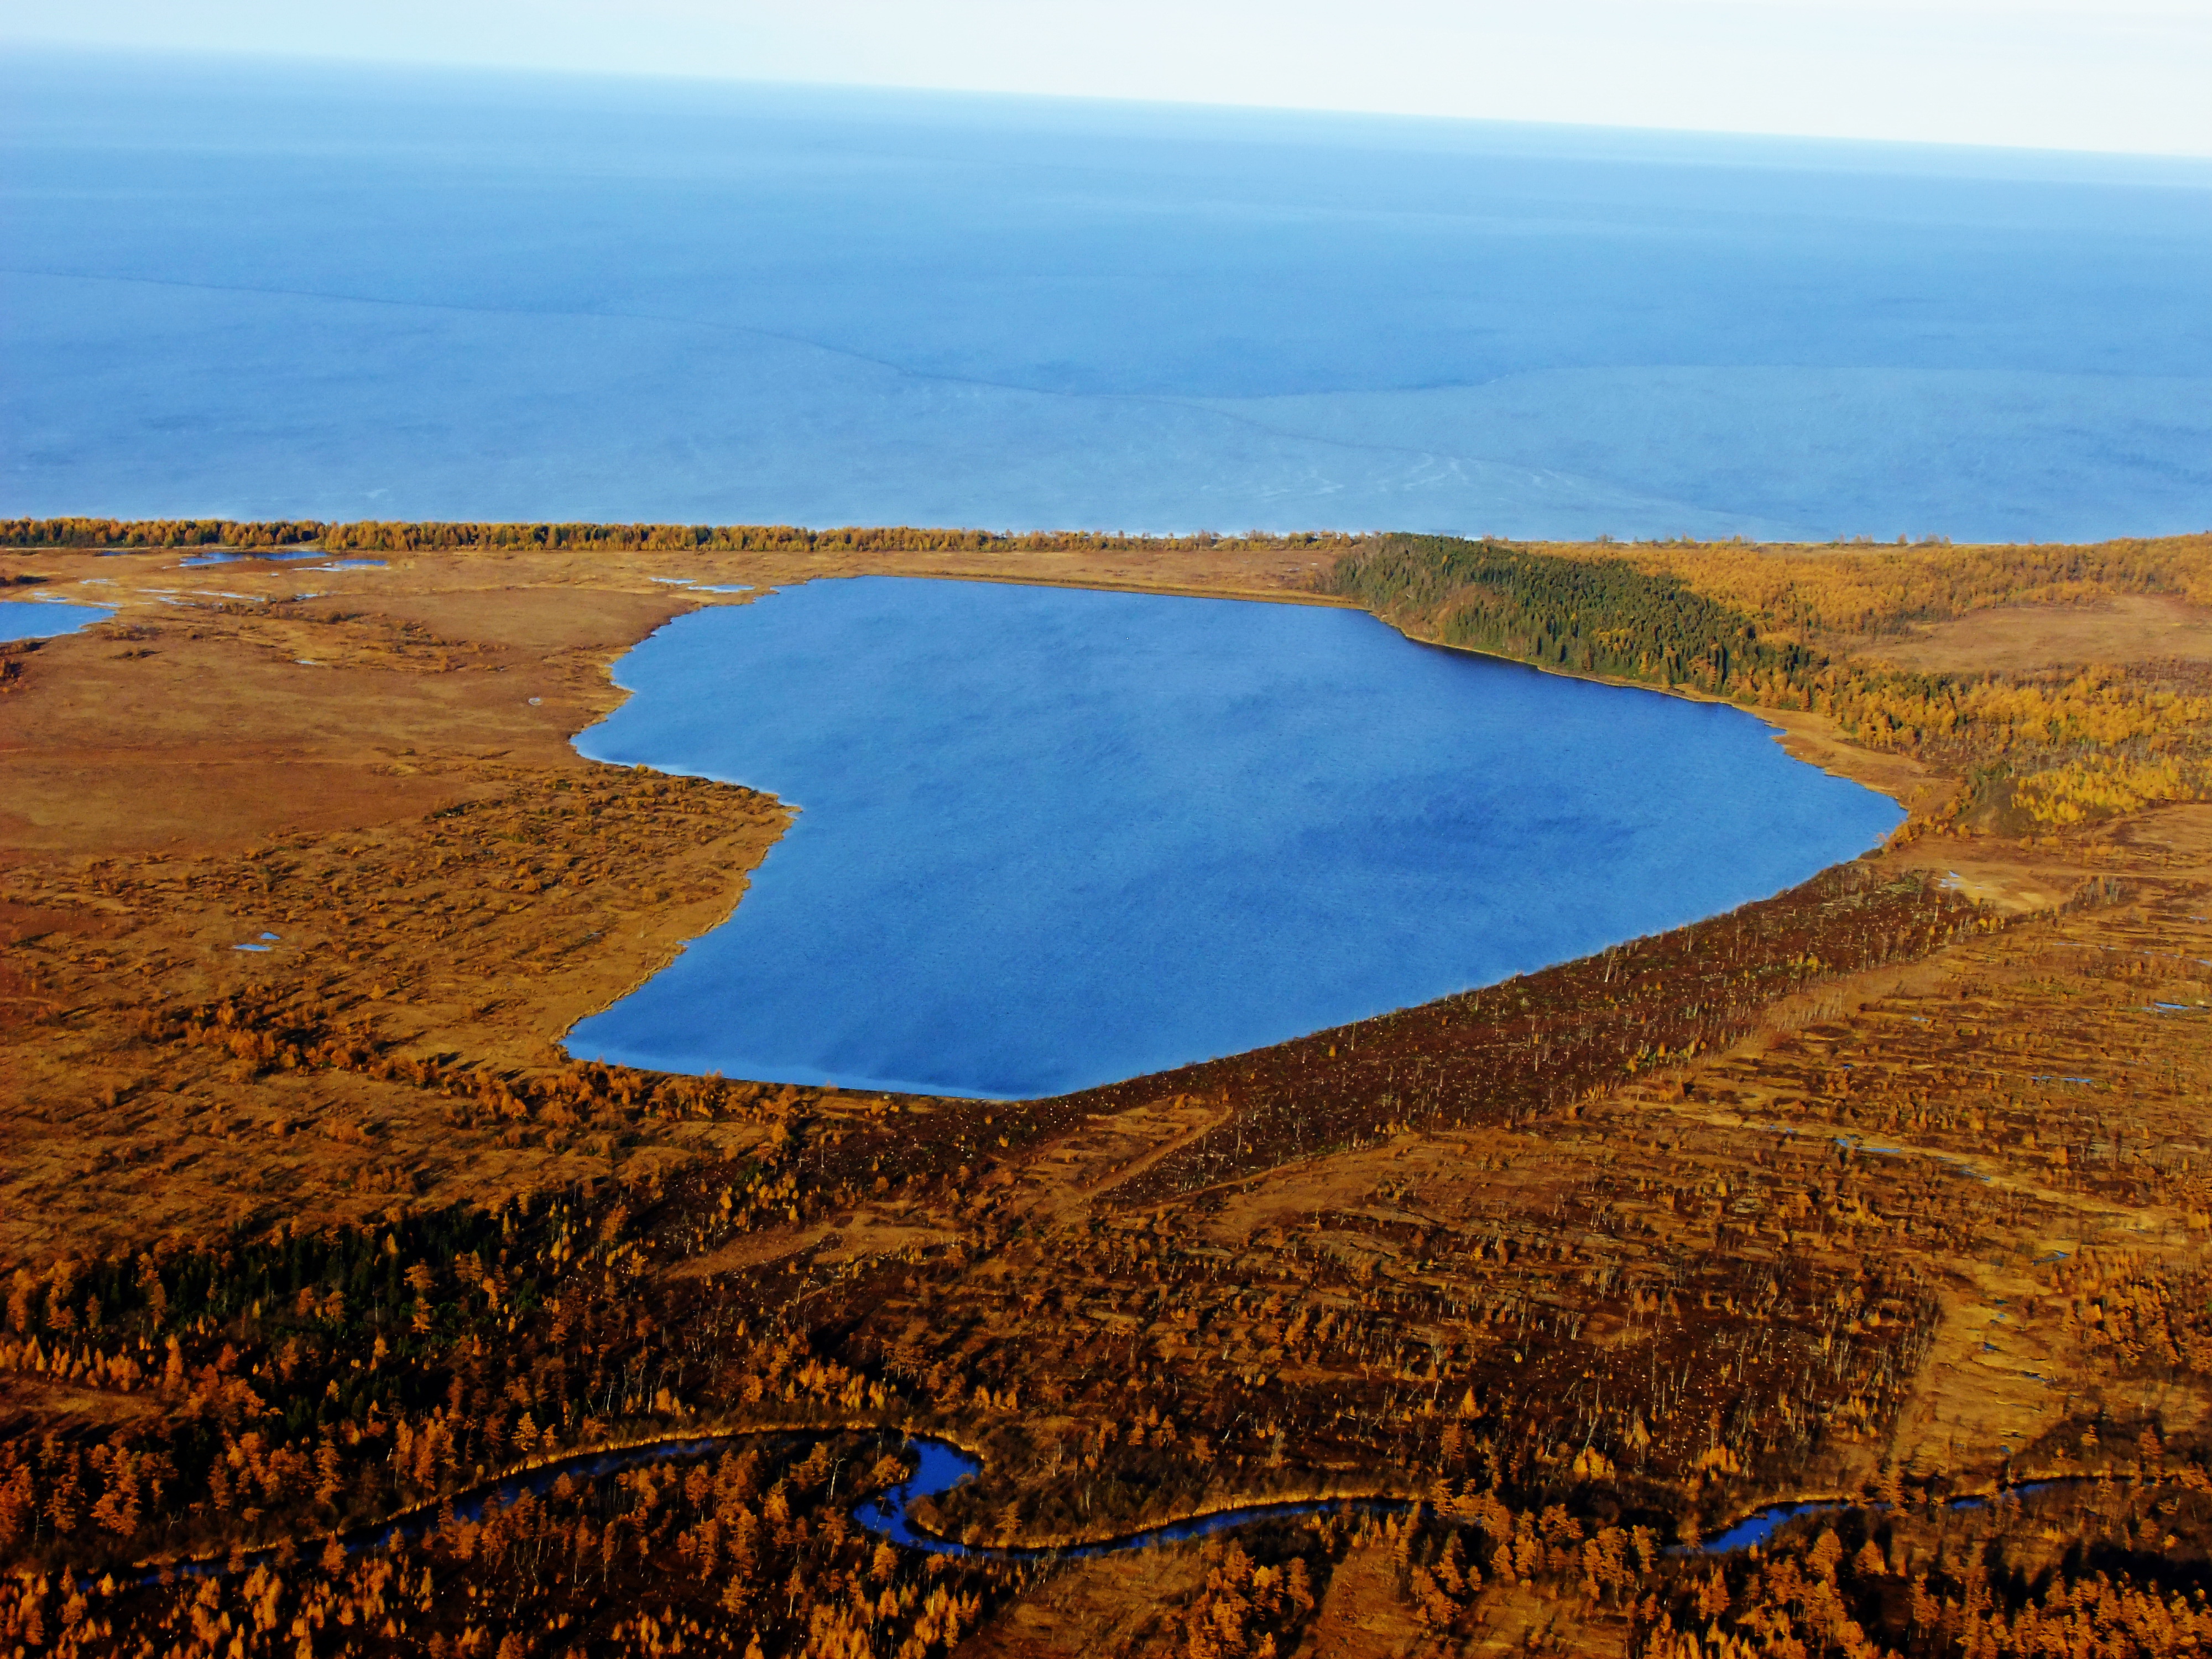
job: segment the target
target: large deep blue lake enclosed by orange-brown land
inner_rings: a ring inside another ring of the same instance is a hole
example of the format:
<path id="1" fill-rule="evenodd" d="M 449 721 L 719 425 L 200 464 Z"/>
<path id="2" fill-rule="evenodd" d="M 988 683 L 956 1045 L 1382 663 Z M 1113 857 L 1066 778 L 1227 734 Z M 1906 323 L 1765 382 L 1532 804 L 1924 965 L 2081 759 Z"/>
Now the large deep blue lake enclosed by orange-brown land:
<path id="1" fill-rule="evenodd" d="M 796 805 L 571 1053 L 1026 1097 L 1360 1020 L 1781 891 L 1887 796 L 1723 706 L 1358 611 L 854 577 L 630 650 L 599 761 Z"/>

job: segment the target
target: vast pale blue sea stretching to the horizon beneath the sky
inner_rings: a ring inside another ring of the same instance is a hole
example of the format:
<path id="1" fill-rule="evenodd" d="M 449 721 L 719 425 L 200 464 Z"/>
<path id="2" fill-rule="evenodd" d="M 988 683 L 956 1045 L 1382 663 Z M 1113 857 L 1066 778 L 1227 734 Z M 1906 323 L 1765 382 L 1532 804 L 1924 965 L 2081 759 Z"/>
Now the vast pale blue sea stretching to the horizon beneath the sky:
<path id="1" fill-rule="evenodd" d="M 0 60 L 0 511 L 2212 524 L 2212 164 Z"/>

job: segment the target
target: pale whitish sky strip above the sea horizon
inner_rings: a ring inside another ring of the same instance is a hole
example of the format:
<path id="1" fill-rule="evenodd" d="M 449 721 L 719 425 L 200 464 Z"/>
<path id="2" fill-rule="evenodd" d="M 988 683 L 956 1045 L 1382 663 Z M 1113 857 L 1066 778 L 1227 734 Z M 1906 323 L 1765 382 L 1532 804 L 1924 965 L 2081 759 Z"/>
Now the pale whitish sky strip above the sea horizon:
<path id="1" fill-rule="evenodd" d="M 0 42 L 2212 155 L 2212 0 L 0 0 Z"/>

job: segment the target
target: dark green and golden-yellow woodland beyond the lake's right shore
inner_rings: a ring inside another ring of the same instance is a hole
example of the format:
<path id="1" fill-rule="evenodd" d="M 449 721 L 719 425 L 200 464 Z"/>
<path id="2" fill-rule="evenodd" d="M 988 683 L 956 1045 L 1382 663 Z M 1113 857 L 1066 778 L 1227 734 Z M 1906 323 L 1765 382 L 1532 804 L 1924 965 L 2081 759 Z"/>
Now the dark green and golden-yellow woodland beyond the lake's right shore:
<path id="1" fill-rule="evenodd" d="M 2212 664 L 1916 672 L 1880 644 L 2000 602 L 2205 602 L 2205 535 L 1834 553 L 1385 535 L 1323 586 L 1420 639 L 1834 719 L 1854 743 L 1962 776 L 1938 823 L 2017 834 L 2212 799 Z"/>

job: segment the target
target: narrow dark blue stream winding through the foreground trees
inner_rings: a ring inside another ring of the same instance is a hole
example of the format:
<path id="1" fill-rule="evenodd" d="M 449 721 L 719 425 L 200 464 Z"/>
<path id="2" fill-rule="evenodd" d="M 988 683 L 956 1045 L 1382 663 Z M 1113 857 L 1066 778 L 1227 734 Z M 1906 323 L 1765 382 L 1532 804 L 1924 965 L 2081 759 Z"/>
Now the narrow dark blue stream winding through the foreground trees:
<path id="1" fill-rule="evenodd" d="M 770 1440 L 783 1433 L 805 1436 L 810 1431 L 779 1431 L 779 1429 L 743 1429 L 739 1433 L 726 1436 L 697 1436 L 688 1440 L 653 1440 L 641 1447 L 622 1447 L 617 1451 L 586 1451 L 575 1458 L 562 1458 L 557 1462 L 540 1464 L 535 1469 L 524 1469 L 513 1475 L 487 1482 L 469 1493 L 451 1500 L 451 1511 L 456 1520 L 473 1522 L 482 1520 L 484 1506 L 498 1502 L 502 1509 L 511 1509 L 518 1498 L 531 1493 L 544 1498 L 553 1491 L 555 1482 L 564 1475 L 582 1480 L 604 1480 L 606 1475 L 622 1473 L 624 1469 L 639 1469 L 655 1462 L 688 1462 L 695 1458 L 708 1458 L 717 1451 L 728 1451 L 741 1440 Z M 1093 1559 L 1099 1555 L 1128 1555 L 1135 1551 L 1159 1548 L 1161 1544 L 1186 1544 L 1197 1537 L 1212 1537 L 1214 1533 L 1228 1533 L 1239 1526 L 1261 1526 L 1265 1522 L 1296 1520 L 1301 1515 L 1402 1515 L 1420 1504 L 1409 1498 L 1316 1498 L 1303 1502 L 1274 1502 L 1274 1504 L 1243 1504 L 1239 1509 L 1219 1509 L 1208 1515 L 1192 1515 L 1190 1520 L 1168 1522 L 1164 1526 L 1148 1526 L 1141 1533 L 1128 1533 L 1124 1537 L 1097 1540 L 1093 1544 L 1066 1544 L 1055 1548 L 1000 1548 L 989 1544 L 958 1544 L 949 1537 L 938 1537 L 925 1531 L 914 1520 L 914 1506 L 925 1498 L 942 1498 L 953 1486 L 960 1486 L 982 1473 L 982 1462 L 951 1444 L 949 1440 L 938 1440 L 936 1436 L 911 1436 L 907 1440 L 907 1451 L 916 1458 L 914 1473 L 896 1486 L 887 1486 L 874 1498 L 865 1498 L 854 1506 L 852 1517 L 876 1533 L 878 1537 L 898 1544 L 900 1548 L 922 1551 L 927 1555 L 951 1555 L 975 1562 L 1075 1562 Z M 2006 1495 L 2031 1495 L 2057 1486 L 2057 1480 L 2039 1480 L 2024 1486 L 2011 1486 Z M 1982 1509 L 1989 1498 L 1953 1498 L 1947 1509 Z M 1728 1531 L 1703 1540 L 1701 1544 L 1683 1546 L 1670 1551 L 1674 1555 L 1734 1555 L 1739 1551 L 1752 1548 L 1754 1544 L 1765 1544 L 1774 1533 L 1801 1515 L 1832 1515 L 1847 1509 L 1865 1509 L 1865 1504 L 1845 1502 L 1801 1502 L 1801 1504 L 1772 1504 L 1743 1520 L 1734 1522 Z M 445 1504 L 425 1506 L 398 1520 L 376 1522 L 374 1526 L 358 1526 L 352 1533 L 341 1535 L 341 1544 L 347 1551 L 376 1551 L 392 1548 L 400 1542 L 422 1537 L 440 1524 Z M 241 1559 L 241 1571 L 272 1562 L 276 1548 L 248 1551 Z M 175 1562 L 168 1568 L 148 1568 L 139 1575 L 139 1584 L 159 1582 L 161 1573 L 168 1571 L 177 1577 L 210 1577 L 217 1573 L 228 1573 L 226 1559 L 204 1559 L 204 1562 Z"/>

